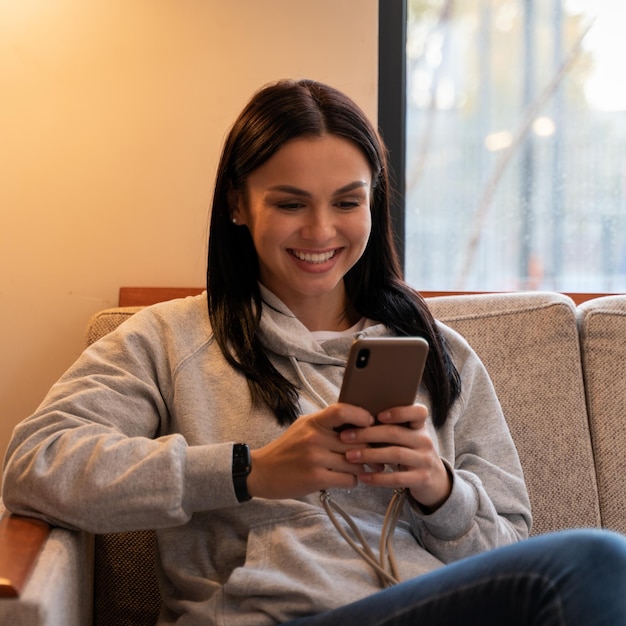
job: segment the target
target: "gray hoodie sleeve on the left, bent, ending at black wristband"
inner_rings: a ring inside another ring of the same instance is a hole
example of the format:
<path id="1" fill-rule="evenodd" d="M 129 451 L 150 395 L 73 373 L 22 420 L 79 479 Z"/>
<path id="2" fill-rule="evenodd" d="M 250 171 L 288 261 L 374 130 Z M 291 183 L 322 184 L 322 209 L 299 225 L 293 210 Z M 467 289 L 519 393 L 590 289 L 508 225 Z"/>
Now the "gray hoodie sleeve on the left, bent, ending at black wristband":
<path id="1" fill-rule="evenodd" d="M 88 348 L 16 427 L 3 479 L 9 510 L 113 532 L 236 504 L 232 444 L 192 447 L 170 434 L 168 332 L 138 313 Z"/>

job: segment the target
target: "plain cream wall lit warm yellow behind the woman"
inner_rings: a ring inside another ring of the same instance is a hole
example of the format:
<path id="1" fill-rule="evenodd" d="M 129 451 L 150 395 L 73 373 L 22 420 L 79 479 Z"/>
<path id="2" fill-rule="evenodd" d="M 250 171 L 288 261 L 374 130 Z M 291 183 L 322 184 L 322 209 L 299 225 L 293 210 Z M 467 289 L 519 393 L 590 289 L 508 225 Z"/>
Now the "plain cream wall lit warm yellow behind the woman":
<path id="1" fill-rule="evenodd" d="M 312 77 L 376 115 L 377 0 L 0 0 L 0 453 L 122 285 L 202 285 L 227 127 Z"/>

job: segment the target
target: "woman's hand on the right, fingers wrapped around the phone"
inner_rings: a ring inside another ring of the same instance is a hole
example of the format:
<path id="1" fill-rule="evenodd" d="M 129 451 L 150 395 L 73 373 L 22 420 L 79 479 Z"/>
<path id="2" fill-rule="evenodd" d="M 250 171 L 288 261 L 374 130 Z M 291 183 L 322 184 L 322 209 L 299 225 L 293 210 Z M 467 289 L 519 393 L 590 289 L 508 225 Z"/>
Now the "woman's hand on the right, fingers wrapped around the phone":
<path id="1" fill-rule="evenodd" d="M 370 468 L 371 471 L 359 474 L 360 482 L 404 487 L 427 513 L 432 513 L 447 500 L 452 480 L 426 428 L 426 407 L 396 407 L 377 417 L 379 423 L 374 426 L 341 433 L 345 443 L 378 444 L 348 450 L 347 460 Z M 385 466 L 392 466 L 395 471 L 384 471 Z"/>

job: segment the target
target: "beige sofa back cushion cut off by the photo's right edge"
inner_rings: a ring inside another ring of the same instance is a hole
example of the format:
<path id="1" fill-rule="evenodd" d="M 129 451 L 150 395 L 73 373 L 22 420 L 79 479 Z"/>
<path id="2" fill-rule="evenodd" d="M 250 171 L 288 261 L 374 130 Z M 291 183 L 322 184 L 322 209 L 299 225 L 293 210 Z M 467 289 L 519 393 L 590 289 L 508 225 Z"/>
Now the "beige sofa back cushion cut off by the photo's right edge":
<path id="1" fill-rule="evenodd" d="M 578 323 L 602 524 L 626 532 L 626 295 L 581 304 Z"/>

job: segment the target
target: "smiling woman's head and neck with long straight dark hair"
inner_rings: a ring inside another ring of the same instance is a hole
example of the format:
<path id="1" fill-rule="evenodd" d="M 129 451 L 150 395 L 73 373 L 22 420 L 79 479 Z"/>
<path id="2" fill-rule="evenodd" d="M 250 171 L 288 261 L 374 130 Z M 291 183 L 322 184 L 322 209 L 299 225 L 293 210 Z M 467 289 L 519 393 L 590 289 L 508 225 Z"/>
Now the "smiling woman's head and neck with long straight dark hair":
<path id="1" fill-rule="evenodd" d="M 431 358 L 424 379 L 436 398 L 435 415 L 443 416 L 456 393 L 456 374 L 423 299 L 401 279 L 386 150 L 364 112 L 321 83 L 280 81 L 244 108 L 218 172 L 207 269 L 209 316 L 227 358 L 246 373 L 253 398 L 272 406 L 281 423 L 297 414 L 295 389 L 276 376 L 254 343 L 255 310 L 262 303 L 259 277 L 265 275 L 313 327 L 324 322 L 326 330 L 341 331 L 366 317 L 387 321 L 399 334 L 427 335 Z M 251 190 L 254 198 L 248 197 Z M 237 223 L 249 220 L 251 227 L 233 225 L 233 217 Z M 274 219 L 278 234 L 270 223 Z M 333 256 L 321 266 L 298 258 L 312 252 Z M 310 306 L 314 296 L 324 306 Z"/>

